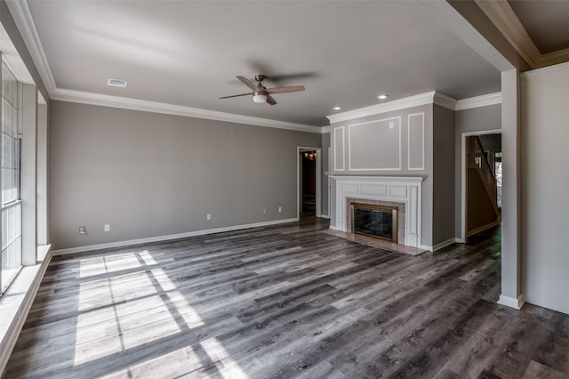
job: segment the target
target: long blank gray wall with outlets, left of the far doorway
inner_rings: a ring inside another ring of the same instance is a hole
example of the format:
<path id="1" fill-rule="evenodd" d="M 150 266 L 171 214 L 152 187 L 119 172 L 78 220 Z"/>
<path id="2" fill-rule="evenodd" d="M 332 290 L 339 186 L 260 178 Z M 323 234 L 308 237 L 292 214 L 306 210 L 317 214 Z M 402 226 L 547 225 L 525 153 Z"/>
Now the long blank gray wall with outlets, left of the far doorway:
<path id="1" fill-rule="evenodd" d="M 64 101 L 50 110 L 55 249 L 295 218 L 297 146 L 322 143 L 317 133 Z"/>

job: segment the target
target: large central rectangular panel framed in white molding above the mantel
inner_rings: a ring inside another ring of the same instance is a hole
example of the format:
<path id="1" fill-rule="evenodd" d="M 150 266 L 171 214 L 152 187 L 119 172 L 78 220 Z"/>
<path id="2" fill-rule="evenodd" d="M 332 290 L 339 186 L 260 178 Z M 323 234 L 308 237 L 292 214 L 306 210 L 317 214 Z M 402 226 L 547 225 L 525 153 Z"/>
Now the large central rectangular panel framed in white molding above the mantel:
<path id="1" fill-rule="evenodd" d="M 349 171 L 401 171 L 401 117 L 349 125 L 348 145 Z"/>

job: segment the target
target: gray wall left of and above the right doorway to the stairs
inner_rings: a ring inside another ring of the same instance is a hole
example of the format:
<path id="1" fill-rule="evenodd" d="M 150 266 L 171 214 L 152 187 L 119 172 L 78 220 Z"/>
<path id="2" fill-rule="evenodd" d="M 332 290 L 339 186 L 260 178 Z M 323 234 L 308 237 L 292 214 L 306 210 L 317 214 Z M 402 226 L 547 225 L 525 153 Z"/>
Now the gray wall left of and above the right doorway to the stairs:
<path id="1" fill-rule="evenodd" d="M 462 133 L 501 129 L 501 104 L 458 110 L 454 116 L 454 233 L 461 236 L 461 138 Z"/>

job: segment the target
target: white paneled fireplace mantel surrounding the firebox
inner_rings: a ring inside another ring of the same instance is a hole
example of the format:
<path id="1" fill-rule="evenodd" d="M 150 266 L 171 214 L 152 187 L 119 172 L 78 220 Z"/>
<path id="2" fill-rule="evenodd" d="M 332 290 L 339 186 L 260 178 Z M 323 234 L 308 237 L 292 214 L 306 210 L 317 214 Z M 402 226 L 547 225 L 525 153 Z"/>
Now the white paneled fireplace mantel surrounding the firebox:
<path id="1" fill-rule="evenodd" d="M 405 246 L 421 247 L 422 176 L 332 176 L 335 194 L 330 229 L 347 231 L 347 199 L 405 204 Z"/>

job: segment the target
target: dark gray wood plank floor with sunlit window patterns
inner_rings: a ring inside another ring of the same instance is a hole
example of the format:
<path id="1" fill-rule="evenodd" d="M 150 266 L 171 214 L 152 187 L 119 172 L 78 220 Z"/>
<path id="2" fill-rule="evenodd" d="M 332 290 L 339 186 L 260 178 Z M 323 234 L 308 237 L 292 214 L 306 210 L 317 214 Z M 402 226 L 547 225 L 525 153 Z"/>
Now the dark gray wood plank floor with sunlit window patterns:
<path id="1" fill-rule="evenodd" d="M 325 228 L 56 257 L 4 377 L 567 377 L 569 316 L 495 302 L 499 230 L 413 257 Z"/>

